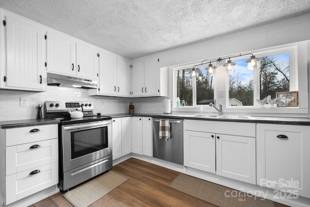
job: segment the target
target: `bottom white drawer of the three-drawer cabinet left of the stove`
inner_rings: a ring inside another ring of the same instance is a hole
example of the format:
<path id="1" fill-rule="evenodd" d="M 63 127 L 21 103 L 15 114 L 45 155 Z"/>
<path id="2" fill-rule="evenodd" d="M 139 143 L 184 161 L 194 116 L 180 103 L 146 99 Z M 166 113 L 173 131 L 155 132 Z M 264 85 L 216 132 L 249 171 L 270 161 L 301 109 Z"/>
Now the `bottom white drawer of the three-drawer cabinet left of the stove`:
<path id="1" fill-rule="evenodd" d="M 58 162 L 55 163 L 57 164 Z M 49 163 L 47 165 L 6 176 L 6 205 L 52 186 L 54 179 L 53 176 L 55 176 L 55 173 L 53 172 L 54 168 L 54 163 Z M 34 170 L 40 170 L 40 172 L 30 175 Z"/>

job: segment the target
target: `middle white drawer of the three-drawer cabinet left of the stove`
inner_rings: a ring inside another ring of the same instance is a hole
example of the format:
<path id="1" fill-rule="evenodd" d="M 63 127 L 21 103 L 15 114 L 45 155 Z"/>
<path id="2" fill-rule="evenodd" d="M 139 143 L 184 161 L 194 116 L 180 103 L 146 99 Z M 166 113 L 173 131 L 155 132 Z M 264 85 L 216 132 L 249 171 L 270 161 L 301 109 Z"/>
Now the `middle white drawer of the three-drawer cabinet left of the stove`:
<path id="1" fill-rule="evenodd" d="M 40 146 L 30 148 L 31 146 Z M 5 148 L 5 175 L 58 161 L 58 139 L 26 143 Z"/>

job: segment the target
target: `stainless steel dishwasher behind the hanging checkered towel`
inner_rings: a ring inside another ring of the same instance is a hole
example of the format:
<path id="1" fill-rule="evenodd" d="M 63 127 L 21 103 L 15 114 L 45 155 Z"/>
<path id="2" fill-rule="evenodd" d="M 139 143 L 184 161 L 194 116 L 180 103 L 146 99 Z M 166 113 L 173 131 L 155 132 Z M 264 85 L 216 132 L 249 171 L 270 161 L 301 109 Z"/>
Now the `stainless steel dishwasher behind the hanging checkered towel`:
<path id="1" fill-rule="evenodd" d="M 153 157 L 183 165 L 183 120 L 165 119 L 170 123 L 167 141 L 159 139 L 159 120 L 153 118 Z"/>

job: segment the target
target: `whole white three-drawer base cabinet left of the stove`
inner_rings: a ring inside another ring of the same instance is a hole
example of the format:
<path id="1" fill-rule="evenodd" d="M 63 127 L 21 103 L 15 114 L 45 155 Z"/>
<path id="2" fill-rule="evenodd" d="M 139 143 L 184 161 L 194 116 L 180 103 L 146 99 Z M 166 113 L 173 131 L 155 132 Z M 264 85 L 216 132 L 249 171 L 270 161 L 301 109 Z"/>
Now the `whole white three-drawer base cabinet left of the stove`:
<path id="1" fill-rule="evenodd" d="M 1 129 L 5 205 L 58 183 L 58 125 Z"/>

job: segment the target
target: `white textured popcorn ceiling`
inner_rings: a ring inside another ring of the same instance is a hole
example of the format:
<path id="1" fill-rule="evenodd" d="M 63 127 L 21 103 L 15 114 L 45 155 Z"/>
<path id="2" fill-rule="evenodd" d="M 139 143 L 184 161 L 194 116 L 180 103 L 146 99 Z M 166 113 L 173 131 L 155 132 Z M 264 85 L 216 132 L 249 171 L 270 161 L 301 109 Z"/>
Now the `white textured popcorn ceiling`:
<path id="1" fill-rule="evenodd" d="M 134 59 L 310 12 L 310 0 L 0 0 L 0 7 Z"/>

